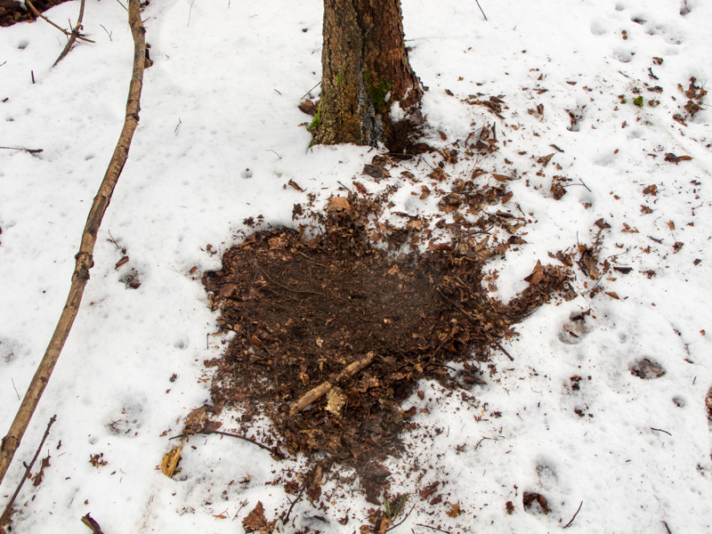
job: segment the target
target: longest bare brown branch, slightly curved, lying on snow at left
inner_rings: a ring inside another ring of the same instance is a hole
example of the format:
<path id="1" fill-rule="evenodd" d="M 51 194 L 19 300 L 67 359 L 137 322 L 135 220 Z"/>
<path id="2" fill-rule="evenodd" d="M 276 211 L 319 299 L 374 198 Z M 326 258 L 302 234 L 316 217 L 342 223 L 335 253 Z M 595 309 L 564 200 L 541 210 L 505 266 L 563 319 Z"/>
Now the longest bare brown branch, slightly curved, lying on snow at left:
<path id="1" fill-rule="evenodd" d="M 141 20 L 140 0 L 129 0 L 128 22 L 131 27 L 131 33 L 134 36 L 134 70 L 128 89 L 124 129 L 118 138 L 114 155 L 111 157 L 109 167 L 106 174 L 104 174 L 104 179 L 96 197 L 94 197 L 92 209 L 86 219 L 79 253 L 75 256 L 77 263 L 72 274 L 72 284 L 69 288 L 67 303 L 64 305 L 60 320 L 56 328 L 54 328 L 52 339 L 44 352 L 42 361 L 37 367 L 35 376 L 32 377 L 32 382 L 30 382 L 28 391 L 25 393 L 25 398 L 20 404 L 20 409 L 14 421 L 12 421 L 10 431 L 3 438 L 2 446 L 0 447 L 0 483 L 2 483 L 5 473 L 7 473 L 7 468 L 12 462 L 15 451 L 20 446 L 22 436 L 28 428 L 29 420 L 35 412 L 37 403 L 44 392 L 44 387 L 49 382 L 50 376 L 52 376 L 54 365 L 60 358 L 62 347 L 67 341 L 67 336 L 69 336 L 69 330 L 77 317 L 82 295 L 84 295 L 84 288 L 89 280 L 89 270 L 93 267 L 93 250 L 96 236 L 101 226 L 101 219 L 109 206 L 109 200 L 118 182 L 118 177 L 124 168 L 126 158 L 128 158 L 131 140 L 139 122 L 143 67 L 146 63 L 146 29 L 143 28 Z"/>

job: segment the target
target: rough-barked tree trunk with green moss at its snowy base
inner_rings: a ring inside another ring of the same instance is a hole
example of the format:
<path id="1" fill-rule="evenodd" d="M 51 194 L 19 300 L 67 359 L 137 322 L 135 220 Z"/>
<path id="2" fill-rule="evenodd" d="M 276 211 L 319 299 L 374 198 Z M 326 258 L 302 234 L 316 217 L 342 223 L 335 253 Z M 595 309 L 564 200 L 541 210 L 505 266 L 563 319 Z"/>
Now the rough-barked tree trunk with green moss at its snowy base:
<path id="1" fill-rule="evenodd" d="M 422 123 L 423 88 L 403 43 L 401 0 L 324 0 L 323 31 L 314 142 L 403 150 Z"/>

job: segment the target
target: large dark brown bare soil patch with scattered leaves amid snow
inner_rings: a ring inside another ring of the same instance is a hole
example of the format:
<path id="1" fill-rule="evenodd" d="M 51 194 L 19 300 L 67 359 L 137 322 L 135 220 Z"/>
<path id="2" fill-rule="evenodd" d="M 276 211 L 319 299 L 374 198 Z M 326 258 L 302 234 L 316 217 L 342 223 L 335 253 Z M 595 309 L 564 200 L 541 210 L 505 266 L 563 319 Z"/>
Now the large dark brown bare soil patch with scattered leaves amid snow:
<path id="1" fill-rule="evenodd" d="M 214 402 L 239 405 L 244 425 L 266 414 L 289 452 L 327 451 L 360 466 L 362 479 L 373 471 L 377 482 L 390 473 L 372 460 L 399 448 L 416 413 L 401 403 L 417 381 L 477 383 L 478 361 L 562 288 L 566 271 L 538 263 L 522 295 L 501 303 L 482 287 L 476 250 L 392 257 L 368 244 L 364 220 L 343 210 L 315 239 L 256 232 L 203 281 L 222 328 L 236 333 L 215 362 Z M 336 380 L 368 352 L 375 357 L 367 368 Z M 448 368 L 453 360 L 464 361 L 464 371 Z M 328 395 L 290 414 L 324 381 L 334 385 Z"/>

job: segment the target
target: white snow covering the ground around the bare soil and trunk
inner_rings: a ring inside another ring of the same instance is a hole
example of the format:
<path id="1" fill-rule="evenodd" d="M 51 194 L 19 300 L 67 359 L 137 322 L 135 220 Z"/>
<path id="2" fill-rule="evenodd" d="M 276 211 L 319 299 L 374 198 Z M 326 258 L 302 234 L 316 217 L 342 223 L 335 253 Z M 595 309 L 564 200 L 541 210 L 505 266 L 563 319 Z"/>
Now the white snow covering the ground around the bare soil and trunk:
<path id="1" fill-rule="evenodd" d="M 584 295 L 522 322 L 506 346 L 514 362 L 496 353 L 498 373 L 473 390 L 476 400 L 420 384 L 424 399 L 414 395 L 405 406 L 427 408 L 417 422 L 442 432 L 414 431 L 407 453 L 388 460 L 392 494 L 416 493 L 395 531 L 432 532 L 417 526 L 425 524 L 549 532 L 568 523 L 579 503 L 571 532 L 708 531 L 709 97 L 686 126 L 672 116 L 686 117 L 677 85 L 687 89 L 696 77 L 705 86 L 712 73 L 712 6 L 480 4 L 487 21 L 474 2 L 404 0 L 402 7 L 413 68 L 429 87 L 429 142 L 441 148 L 496 123 L 500 150 L 477 165 L 518 177 L 508 184 L 509 208 L 527 214 L 528 244 L 490 263 L 496 295 L 506 300 L 522 291 L 538 260 L 556 263 L 549 253 L 592 246 L 599 232 L 601 260 L 633 271 L 601 280 L 619 299 L 590 297 L 595 281 L 575 266 L 572 283 Z M 61 24 L 77 9 L 69 2 L 45 14 Z M 57 30 L 41 20 L 0 30 L 0 101 L 7 99 L 0 144 L 44 150 L 0 150 L 0 429 L 9 428 L 59 318 L 85 217 L 123 124 L 133 59 L 125 18 L 118 3 L 87 2 L 85 33 L 96 43 L 77 45 L 54 69 L 64 46 Z M 437 198 L 411 195 L 420 184 L 400 173 L 381 183 L 361 175 L 375 150 L 309 147 L 300 125 L 310 117 L 296 106 L 320 81 L 319 0 L 298 7 L 282 0 L 152 2 L 143 18 L 155 64 L 144 76 L 141 123 L 101 225 L 77 320 L 0 488 L 5 502 L 56 414 L 43 450 L 51 465 L 42 484 L 26 483 L 20 493 L 17 531 L 80 530 L 81 516 L 91 513 L 107 532 L 233 532 L 257 501 L 277 518 L 289 500 L 271 481 L 303 458 L 275 462 L 244 441 L 195 436 L 181 473 L 168 479 L 157 469 L 182 418 L 209 400 L 203 360 L 219 357 L 225 342 L 212 336 L 216 315 L 199 281 L 219 267 L 207 245 L 222 252 L 238 243 L 250 231 L 243 223 L 249 216 L 263 215 L 260 228 L 292 225 L 292 206 L 305 193 L 285 188 L 289 180 L 316 194 L 317 204 L 339 194 L 339 182 L 357 179 L 371 191 L 398 185 L 392 212 L 438 214 Z M 633 104 L 635 88 L 643 108 Z M 476 93 L 505 101 L 504 119 L 463 101 Z M 653 99 L 657 107 L 647 104 Z M 580 117 L 572 129 L 570 112 Z M 668 152 L 692 160 L 675 165 L 664 161 Z M 551 153 L 549 166 L 536 162 Z M 424 180 L 428 170 L 403 168 Z M 472 169 L 461 159 L 447 171 L 454 180 Z M 554 175 L 571 179 L 558 201 L 549 192 Z M 644 195 L 651 184 L 657 195 Z M 643 214 L 643 205 L 652 213 Z M 602 218 L 610 229 L 595 226 Z M 679 252 L 676 242 L 684 243 Z M 119 247 L 130 261 L 115 269 Z M 141 281 L 135 290 L 120 281 L 132 269 Z M 571 320 L 589 307 L 583 323 Z M 633 376 L 629 368 L 641 358 L 666 374 Z M 226 428 L 230 417 L 223 414 Z M 94 467 L 89 458 L 100 453 L 108 464 Z M 413 465 L 427 468 L 422 480 L 409 475 Z M 440 505 L 417 496 L 432 481 L 441 481 Z M 370 505 L 358 492 L 334 482 L 324 490 L 339 496 L 327 510 L 302 502 L 294 523 L 278 521 L 277 529 L 353 532 L 367 523 Z M 525 511 L 523 491 L 545 495 L 550 514 Z M 514 514 L 506 514 L 507 501 Z M 461 514 L 447 515 L 448 502 L 459 502 Z M 341 525 L 344 514 L 351 519 Z"/>

